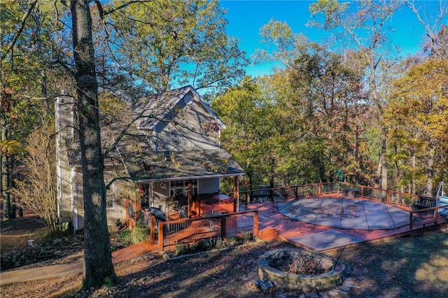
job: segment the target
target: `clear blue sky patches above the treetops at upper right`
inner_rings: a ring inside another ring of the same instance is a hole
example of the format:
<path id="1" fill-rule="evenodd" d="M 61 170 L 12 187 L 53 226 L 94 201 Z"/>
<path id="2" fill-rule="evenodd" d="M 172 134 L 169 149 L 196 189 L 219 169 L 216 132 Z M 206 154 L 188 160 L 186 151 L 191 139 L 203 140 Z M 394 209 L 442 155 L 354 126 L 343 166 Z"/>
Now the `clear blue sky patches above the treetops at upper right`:
<path id="1" fill-rule="evenodd" d="M 239 39 L 241 50 L 246 50 L 250 57 L 256 48 L 262 48 L 260 28 L 269 20 L 286 22 L 296 34 L 304 34 L 312 41 L 323 41 L 328 33 L 306 24 L 311 20 L 308 7 L 314 1 L 241 1 L 221 0 L 221 7 L 228 10 L 225 18 L 229 20 L 228 34 Z M 437 4 L 435 1 L 419 1 L 420 5 Z M 430 16 L 429 16 L 430 17 Z M 445 20 L 444 23 L 447 23 Z M 400 47 L 400 55 L 414 55 L 421 49 L 422 38 L 425 31 L 417 20 L 416 15 L 408 8 L 403 8 L 395 13 L 389 24 L 393 28 L 392 41 Z M 257 76 L 272 71 L 273 64 L 261 64 L 249 66 L 247 74 Z"/>

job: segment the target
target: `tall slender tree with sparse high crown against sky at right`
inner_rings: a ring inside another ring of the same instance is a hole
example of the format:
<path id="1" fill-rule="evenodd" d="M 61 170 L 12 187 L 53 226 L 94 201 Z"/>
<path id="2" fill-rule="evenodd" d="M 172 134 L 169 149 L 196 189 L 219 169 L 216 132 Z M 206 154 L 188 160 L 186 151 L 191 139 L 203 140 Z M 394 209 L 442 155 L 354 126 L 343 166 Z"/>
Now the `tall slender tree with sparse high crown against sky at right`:
<path id="1" fill-rule="evenodd" d="M 381 83 L 381 72 L 388 69 L 393 60 L 387 59 L 387 55 L 393 53 L 386 52 L 383 45 L 386 44 L 386 26 L 388 20 L 393 16 L 395 10 L 400 8 L 398 1 L 361 1 L 339 3 L 337 0 L 318 0 L 311 3 L 309 10 L 312 16 L 323 14 L 324 22 L 310 22 L 311 25 L 325 30 L 342 29 L 342 34 L 351 38 L 349 48 L 357 48 L 360 58 L 363 58 L 363 68 L 365 69 L 365 86 L 370 93 L 372 102 L 372 112 L 379 120 L 380 155 L 377 167 L 377 180 L 381 180 L 381 188 L 388 188 L 388 163 L 387 163 L 387 132 L 381 125 L 381 117 L 385 108 L 385 95 L 381 94 L 381 86 L 386 86 L 386 82 Z M 356 6 L 357 9 L 351 9 Z M 350 8 L 350 9 L 349 9 Z M 343 41 L 347 39 L 341 38 Z M 382 73 L 386 73 L 385 71 Z"/>

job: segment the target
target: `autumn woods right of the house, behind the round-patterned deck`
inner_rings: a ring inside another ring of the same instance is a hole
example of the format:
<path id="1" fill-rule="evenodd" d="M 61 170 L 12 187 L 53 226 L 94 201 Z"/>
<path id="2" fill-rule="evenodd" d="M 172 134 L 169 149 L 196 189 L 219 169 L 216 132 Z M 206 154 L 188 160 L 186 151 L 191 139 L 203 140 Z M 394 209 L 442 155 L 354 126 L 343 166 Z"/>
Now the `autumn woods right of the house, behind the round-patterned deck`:
<path id="1" fill-rule="evenodd" d="M 267 26 L 287 36 L 286 24 Z M 447 27 L 439 34 L 446 47 Z M 284 68 L 246 77 L 211 104 L 244 186 L 343 180 L 433 197 L 448 174 L 447 49 L 388 60 L 304 36 L 284 42 Z"/>

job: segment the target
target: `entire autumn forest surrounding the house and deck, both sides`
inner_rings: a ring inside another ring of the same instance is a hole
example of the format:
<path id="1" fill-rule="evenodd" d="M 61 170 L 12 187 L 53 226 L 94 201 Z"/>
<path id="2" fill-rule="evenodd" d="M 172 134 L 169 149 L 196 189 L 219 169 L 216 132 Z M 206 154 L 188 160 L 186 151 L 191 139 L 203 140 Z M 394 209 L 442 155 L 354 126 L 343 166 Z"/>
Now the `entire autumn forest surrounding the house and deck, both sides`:
<path id="1" fill-rule="evenodd" d="M 36 196 L 27 185 L 54 171 L 54 99 L 76 94 L 65 2 L 1 4 L 3 194 Z M 309 25 L 337 43 L 271 20 L 260 39 L 275 50 L 250 60 L 225 33 L 217 1 L 131 2 L 91 3 L 102 120 L 146 94 L 192 85 L 227 125 L 222 146 L 246 171 L 243 187 L 344 180 L 433 197 L 447 181 L 443 1 L 430 19 L 419 1 L 316 1 Z M 427 35 L 419 55 L 404 59 L 386 37 L 400 9 L 413 10 Z M 264 61 L 279 66 L 244 76 L 249 62 Z M 55 193 L 55 180 L 44 192 Z"/>

